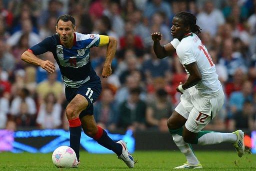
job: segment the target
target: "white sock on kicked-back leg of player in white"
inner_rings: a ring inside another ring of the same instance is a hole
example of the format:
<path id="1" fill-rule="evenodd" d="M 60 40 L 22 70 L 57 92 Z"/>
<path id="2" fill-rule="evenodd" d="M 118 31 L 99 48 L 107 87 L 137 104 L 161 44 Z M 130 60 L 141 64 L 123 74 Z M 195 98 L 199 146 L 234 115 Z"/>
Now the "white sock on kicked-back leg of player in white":
<path id="1" fill-rule="evenodd" d="M 211 144 L 219 144 L 222 142 L 235 143 L 236 140 L 237 140 L 237 136 L 236 134 L 233 134 L 233 133 L 210 132 L 198 138 L 197 144 L 211 145 Z"/>

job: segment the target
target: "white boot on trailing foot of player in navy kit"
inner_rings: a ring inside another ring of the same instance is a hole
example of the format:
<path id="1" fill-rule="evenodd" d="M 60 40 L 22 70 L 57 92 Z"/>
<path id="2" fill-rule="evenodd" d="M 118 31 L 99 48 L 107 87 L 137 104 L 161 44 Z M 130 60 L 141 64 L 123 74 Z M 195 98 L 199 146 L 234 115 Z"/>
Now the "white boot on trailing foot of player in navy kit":
<path id="1" fill-rule="evenodd" d="M 122 160 L 127 167 L 133 168 L 134 167 L 134 160 L 133 157 L 129 154 L 126 143 L 122 140 L 116 142 L 122 146 L 122 154 L 120 156 L 117 156 L 118 159 Z"/>

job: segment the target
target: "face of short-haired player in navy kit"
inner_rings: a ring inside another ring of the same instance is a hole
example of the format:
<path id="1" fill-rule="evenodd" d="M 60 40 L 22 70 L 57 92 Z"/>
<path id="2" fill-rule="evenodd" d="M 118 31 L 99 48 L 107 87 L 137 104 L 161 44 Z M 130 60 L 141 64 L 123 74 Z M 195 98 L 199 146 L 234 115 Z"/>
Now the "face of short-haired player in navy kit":
<path id="1" fill-rule="evenodd" d="M 75 27 L 73 28 L 71 21 L 59 20 L 56 26 L 56 31 L 62 44 L 69 44 L 73 42 L 73 34 Z"/>

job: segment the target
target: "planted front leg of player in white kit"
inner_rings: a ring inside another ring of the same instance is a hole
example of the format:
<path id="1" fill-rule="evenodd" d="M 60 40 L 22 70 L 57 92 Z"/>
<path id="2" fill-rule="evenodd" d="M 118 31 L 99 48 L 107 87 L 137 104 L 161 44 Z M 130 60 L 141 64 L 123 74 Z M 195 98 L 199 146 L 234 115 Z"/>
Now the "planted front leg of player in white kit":
<path id="1" fill-rule="evenodd" d="M 199 165 L 199 161 L 195 157 L 191 145 L 185 143 L 182 137 L 183 125 L 187 120 L 188 114 L 182 104 L 179 103 L 168 119 L 167 126 L 174 143 L 179 148 L 180 152 L 185 155 L 187 163 L 192 166 L 197 166 Z"/>

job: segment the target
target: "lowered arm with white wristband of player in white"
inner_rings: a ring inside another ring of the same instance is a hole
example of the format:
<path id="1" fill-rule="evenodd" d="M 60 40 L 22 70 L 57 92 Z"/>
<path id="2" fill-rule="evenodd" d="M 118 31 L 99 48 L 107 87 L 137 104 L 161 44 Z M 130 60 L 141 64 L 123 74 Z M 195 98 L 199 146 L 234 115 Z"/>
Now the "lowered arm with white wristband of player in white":
<path id="1" fill-rule="evenodd" d="M 179 85 L 176 90 L 179 92 L 183 92 L 185 89 L 188 89 L 194 85 L 196 85 L 201 79 L 202 75 L 197 67 L 196 62 L 192 62 L 188 65 L 184 65 L 186 70 L 189 72 L 189 76 L 184 82 L 184 84 Z"/>

